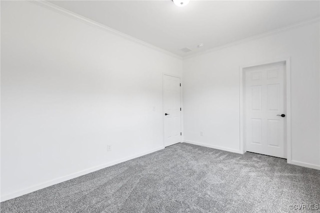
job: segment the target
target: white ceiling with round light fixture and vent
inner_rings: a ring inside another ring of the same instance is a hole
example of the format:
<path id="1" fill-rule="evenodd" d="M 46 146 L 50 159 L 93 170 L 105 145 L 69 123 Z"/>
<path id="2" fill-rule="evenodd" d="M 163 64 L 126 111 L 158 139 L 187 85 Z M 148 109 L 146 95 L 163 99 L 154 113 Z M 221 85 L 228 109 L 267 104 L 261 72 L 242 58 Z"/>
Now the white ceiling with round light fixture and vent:
<path id="1" fill-rule="evenodd" d="M 320 16 L 318 0 L 191 0 L 183 7 L 171 0 L 49 2 L 180 56 Z"/>

